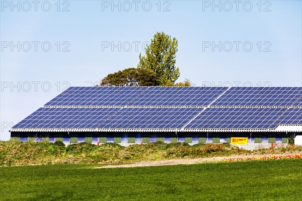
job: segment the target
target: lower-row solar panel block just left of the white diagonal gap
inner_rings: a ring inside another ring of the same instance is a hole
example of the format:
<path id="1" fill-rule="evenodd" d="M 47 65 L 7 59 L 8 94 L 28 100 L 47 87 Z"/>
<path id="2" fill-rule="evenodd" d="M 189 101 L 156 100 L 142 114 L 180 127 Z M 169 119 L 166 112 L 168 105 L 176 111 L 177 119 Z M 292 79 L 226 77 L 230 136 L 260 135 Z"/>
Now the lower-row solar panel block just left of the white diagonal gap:
<path id="1" fill-rule="evenodd" d="M 123 108 L 99 128 L 175 129 L 182 128 L 202 108 Z"/>

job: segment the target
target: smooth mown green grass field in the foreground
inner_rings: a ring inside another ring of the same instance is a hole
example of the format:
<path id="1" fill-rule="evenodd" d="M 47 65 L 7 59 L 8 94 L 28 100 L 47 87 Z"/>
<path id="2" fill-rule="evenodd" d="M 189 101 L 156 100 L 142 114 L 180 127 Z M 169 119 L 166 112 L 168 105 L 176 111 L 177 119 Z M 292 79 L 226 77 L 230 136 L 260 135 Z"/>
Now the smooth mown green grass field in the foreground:
<path id="1" fill-rule="evenodd" d="M 0 200 L 298 200 L 302 160 L 0 167 Z"/>

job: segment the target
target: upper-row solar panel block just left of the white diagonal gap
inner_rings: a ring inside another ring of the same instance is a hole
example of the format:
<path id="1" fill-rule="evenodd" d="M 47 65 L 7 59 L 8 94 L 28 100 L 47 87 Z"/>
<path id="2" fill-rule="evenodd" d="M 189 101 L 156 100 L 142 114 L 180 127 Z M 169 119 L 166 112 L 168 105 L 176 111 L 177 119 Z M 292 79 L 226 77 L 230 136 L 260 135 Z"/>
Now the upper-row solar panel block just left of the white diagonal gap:
<path id="1" fill-rule="evenodd" d="M 227 87 L 149 87 L 128 106 L 208 106 Z"/>

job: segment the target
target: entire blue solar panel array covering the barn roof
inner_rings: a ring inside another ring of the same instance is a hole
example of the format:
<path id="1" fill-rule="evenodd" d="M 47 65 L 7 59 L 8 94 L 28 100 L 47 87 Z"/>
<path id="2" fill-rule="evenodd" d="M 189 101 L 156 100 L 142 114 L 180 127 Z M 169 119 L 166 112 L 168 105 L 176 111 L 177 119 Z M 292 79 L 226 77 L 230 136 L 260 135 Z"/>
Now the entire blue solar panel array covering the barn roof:
<path id="1" fill-rule="evenodd" d="M 13 129 L 302 125 L 302 87 L 70 87 Z"/>

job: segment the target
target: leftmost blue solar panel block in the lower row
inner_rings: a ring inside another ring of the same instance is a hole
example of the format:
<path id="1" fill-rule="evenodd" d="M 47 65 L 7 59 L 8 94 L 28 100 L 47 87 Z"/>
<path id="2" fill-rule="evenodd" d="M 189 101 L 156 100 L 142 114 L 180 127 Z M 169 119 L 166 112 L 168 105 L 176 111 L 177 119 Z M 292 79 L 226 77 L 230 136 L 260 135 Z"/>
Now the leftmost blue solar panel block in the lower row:
<path id="1" fill-rule="evenodd" d="M 13 128 L 96 128 L 119 108 L 40 108 Z"/>

